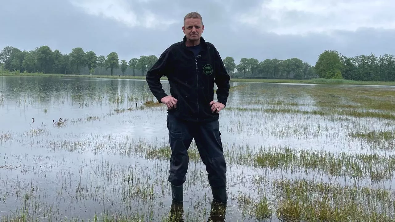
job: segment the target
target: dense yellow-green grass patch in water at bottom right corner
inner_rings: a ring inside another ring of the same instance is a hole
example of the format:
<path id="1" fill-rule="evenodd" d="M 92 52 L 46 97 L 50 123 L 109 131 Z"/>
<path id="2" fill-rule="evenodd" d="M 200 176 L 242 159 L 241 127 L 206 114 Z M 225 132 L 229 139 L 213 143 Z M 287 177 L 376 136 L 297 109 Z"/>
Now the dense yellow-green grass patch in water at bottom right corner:
<path id="1" fill-rule="evenodd" d="M 395 196 L 387 188 L 307 179 L 273 180 L 277 215 L 286 221 L 393 221 Z"/>

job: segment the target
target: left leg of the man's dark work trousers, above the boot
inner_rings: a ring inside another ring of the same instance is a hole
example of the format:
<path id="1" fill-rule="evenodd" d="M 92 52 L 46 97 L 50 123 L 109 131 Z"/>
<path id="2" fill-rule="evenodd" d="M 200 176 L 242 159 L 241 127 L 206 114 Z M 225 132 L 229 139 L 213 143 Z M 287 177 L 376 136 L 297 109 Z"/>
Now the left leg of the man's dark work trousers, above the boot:
<path id="1" fill-rule="evenodd" d="M 168 181 L 173 186 L 181 186 L 185 182 L 185 175 L 188 171 L 188 149 L 193 137 L 188 123 L 170 114 L 167 115 L 167 129 L 169 130 L 169 145 L 171 148 Z"/>

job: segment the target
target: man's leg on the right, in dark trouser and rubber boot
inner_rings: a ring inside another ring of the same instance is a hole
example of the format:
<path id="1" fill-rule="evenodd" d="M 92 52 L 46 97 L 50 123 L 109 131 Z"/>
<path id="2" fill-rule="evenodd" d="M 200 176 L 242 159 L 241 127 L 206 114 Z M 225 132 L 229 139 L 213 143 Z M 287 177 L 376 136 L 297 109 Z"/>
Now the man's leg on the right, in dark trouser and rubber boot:
<path id="1" fill-rule="evenodd" d="M 226 203 L 226 162 L 218 120 L 199 124 L 194 131 L 194 139 L 206 166 L 213 197 Z"/>

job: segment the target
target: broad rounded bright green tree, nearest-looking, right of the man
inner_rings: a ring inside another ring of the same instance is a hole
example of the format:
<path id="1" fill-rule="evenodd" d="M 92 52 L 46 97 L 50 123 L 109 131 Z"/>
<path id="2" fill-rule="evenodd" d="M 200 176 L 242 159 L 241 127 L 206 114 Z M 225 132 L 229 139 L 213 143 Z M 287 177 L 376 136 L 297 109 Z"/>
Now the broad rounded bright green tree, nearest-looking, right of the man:
<path id="1" fill-rule="evenodd" d="M 318 56 L 315 68 L 320 78 L 339 79 L 342 78 L 340 71 L 342 66 L 339 53 L 333 50 L 326 50 Z"/>

